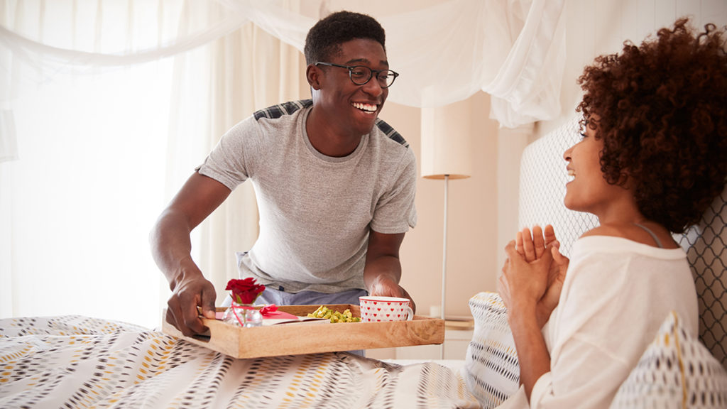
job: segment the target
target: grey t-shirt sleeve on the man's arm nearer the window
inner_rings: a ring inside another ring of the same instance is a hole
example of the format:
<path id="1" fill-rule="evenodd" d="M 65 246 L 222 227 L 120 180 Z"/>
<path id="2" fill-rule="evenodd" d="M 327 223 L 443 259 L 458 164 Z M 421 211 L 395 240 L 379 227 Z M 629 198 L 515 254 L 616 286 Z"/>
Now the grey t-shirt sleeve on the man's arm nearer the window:
<path id="1" fill-rule="evenodd" d="M 234 190 L 254 169 L 254 163 L 249 159 L 255 157 L 251 152 L 254 135 L 257 135 L 257 122 L 251 116 L 222 135 L 217 146 L 195 170 Z"/>

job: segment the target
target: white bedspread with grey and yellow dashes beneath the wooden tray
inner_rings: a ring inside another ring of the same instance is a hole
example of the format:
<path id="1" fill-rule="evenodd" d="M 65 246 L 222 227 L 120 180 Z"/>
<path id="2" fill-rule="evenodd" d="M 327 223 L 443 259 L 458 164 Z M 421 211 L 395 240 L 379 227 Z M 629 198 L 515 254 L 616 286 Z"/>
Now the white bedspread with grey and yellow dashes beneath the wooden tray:
<path id="1" fill-rule="evenodd" d="M 459 372 L 435 362 L 346 352 L 238 360 L 79 316 L 0 319 L 0 368 L 2 408 L 480 407 Z"/>

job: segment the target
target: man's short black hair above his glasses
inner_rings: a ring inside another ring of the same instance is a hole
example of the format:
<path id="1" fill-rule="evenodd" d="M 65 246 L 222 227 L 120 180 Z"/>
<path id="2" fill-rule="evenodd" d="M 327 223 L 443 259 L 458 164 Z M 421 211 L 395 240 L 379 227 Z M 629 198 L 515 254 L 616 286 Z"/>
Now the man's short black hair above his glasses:
<path id="1" fill-rule="evenodd" d="M 305 63 L 328 60 L 341 52 L 341 44 L 353 39 L 372 39 L 386 52 L 384 28 L 374 17 L 355 12 L 334 12 L 318 20 L 305 37 Z"/>

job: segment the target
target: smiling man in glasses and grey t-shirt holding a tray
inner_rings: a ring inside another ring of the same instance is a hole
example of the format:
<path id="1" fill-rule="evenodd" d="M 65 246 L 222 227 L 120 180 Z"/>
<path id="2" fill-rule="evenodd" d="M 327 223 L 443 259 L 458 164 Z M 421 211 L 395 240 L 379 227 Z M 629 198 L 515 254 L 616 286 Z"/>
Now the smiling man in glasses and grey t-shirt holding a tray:
<path id="1" fill-rule="evenodd" d="M 152 253 L 169 280 L 166 319 L 202 333 L 197 306 L 214 317 L 215 290 L 190 256 L 190 231 L 249 179 L 260 235 L 238 254 L 241 277 L 266 286 L 259 302 L 353 303 L 411 299 L 398 285 L 398 252 L 416 224 L 416 159 L 377 116 L 398 74 L 376 20 L 337 12 L 305 41 L 312 100 L 256 112 L 220 140 L 161 213 Z M 414 303 L 412 301 L 412 308 Z"/>

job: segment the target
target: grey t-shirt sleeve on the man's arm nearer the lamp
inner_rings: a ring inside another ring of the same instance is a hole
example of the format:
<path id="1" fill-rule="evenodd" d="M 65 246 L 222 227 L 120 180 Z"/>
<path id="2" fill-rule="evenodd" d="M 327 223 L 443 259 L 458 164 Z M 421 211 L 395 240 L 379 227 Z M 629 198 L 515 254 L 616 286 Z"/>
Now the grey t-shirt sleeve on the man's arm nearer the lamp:
<path id="1" fill-rule="evenodd" d="M 371 229 L 383 234 L 406 233 L 417 225 L 417 209 L 414 207 L 417 159 L 411 148 L 406 149 L 389 186 L 376 205 Z"/>

